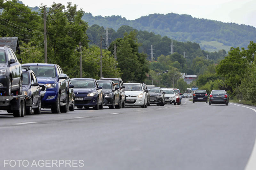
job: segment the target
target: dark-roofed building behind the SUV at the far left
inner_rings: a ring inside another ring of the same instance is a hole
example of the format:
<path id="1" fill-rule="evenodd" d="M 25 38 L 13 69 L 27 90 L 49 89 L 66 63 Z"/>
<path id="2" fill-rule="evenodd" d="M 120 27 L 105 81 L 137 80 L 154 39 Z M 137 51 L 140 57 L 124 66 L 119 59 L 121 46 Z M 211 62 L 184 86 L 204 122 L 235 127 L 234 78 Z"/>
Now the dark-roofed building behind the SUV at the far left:
<path id="1" fill-rule="evenodd" d="M 18 37 L 0 37 L 0 47 L 4 46 L 9 46 L 15 53 L 20 54 Z"/>

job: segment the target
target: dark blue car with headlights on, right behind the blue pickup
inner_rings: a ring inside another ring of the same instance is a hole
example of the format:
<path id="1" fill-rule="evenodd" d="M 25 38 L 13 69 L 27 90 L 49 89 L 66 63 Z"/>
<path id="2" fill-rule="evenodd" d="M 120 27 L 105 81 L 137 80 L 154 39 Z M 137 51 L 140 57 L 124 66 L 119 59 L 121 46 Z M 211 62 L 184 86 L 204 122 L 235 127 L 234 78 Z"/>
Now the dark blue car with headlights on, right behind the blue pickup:
<path id="1" fill-rule="evenodd" d="M 79 109 L 93 107 L 103 109 L 102 86 L 93 78 L 71 78 L 74 85 L 75 106 Z"/>

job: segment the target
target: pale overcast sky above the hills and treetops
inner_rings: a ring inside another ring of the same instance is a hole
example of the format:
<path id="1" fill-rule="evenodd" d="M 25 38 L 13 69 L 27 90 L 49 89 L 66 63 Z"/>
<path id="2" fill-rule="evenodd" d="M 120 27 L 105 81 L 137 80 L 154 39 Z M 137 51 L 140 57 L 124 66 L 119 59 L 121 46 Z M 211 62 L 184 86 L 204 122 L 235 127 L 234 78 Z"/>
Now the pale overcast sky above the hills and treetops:
<path id="1" fill-rule="evenodd" d="M 50 7 L 52 0 L 21 0 L 30 7 L 43 5 Z M 222 22 L 233 22 L 256 27 L 256 0 L 54 0 L 67 6 L 67 2 L 77 4 L 78 9 L 91 12 L 93 16 L 120 15 L 126 19 L 136 19 L 154 13 L 189 14 L 196 18 L 206 18 Z"/>

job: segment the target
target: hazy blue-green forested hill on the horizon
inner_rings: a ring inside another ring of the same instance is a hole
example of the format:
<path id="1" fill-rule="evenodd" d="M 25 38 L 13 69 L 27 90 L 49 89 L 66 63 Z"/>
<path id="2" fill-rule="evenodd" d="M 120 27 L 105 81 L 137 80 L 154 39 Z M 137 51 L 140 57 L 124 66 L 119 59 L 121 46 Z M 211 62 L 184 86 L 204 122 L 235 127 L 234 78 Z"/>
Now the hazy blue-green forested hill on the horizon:
<path id="1" fill-rule="evenodd" d="M 121 16 L 102 17 L 84 13 L 83 19 L 89 26 L 97 24 L 117 30 L 127 25 L 137 30 L 167 36 L 176 41 L 196 42 L 207 51 L 220 49 L 228 51 L 231 46 L 247 48 L 250 41 L 256 41 L 256 28 L 253 26 L 193 18 L 185 14 L 150 14 L 135 20 L 127 20 Z"/>

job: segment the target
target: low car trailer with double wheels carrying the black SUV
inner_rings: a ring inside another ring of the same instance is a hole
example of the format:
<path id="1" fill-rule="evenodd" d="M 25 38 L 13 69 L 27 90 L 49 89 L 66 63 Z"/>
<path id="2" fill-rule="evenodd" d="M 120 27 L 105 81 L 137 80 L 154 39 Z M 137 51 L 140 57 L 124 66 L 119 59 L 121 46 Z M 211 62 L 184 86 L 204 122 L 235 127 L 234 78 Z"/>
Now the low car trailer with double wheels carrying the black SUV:
<path id="1" fill-rule="evenodd" d="M 26 102 L 31 103 L 31 97 L 25 95 L 0 96 L 0 110 L 13 113 L 13 117 L 26 115 Z"/>

